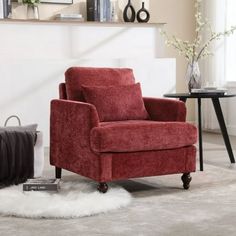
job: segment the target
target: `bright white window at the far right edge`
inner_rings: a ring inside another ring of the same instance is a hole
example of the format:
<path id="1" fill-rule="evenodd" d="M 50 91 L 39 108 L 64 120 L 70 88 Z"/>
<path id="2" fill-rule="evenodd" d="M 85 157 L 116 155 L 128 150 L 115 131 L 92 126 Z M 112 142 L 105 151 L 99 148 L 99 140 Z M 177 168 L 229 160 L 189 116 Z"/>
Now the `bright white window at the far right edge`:
<path id="1" fill-rule="evenodd" d="M 227 0 L 226 7 L 226 28 L 229 29 L 232 25 L 236 25 L 236 1 Z M 226 81 L 236 82 L 236 31 L 233 35 L 226 37 L 226 52 L 225 52 L 225 73 Z"/>

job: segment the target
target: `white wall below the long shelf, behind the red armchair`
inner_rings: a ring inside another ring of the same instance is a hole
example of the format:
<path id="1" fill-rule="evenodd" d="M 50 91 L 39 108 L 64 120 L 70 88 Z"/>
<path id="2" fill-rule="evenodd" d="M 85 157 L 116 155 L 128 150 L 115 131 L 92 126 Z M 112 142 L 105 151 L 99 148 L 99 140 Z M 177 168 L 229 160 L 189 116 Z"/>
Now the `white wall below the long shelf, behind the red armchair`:
<path id="1" fill-rule="evenodd" d="M 132 67 L 144 96 L 175 88 L 175 60 L 157 59 L 156 26 L 0 23 L 0 124 L 12 114 L 38 123 L 49 141 L 50 100 L 71 66 Z"/>

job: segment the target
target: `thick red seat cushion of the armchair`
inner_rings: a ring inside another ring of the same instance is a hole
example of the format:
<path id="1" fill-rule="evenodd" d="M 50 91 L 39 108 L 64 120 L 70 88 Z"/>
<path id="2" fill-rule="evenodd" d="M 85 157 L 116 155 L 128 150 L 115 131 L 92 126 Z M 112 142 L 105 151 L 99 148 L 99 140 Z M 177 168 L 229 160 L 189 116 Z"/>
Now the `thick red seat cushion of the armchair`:
<path id="1" fill-rule="evenodd" d="M 94 152 L 174 149 L 195 144 L 196 141 L 196 127 L 186 122 L 102 122 L 90 133 L 90 145 Z"/>

